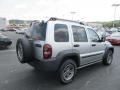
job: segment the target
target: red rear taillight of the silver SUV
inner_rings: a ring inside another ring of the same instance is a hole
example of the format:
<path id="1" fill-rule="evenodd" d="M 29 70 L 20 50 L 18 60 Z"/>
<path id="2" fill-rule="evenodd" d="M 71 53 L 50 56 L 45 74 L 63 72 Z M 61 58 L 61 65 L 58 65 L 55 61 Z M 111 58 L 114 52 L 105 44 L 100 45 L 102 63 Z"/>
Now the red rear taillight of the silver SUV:
<path id="1" fill-rule="evenodd" d="M 52 56 L 52 47 L 49 44 L 43 46 L 43 57 L 44 59 L 49 59 Z"/>

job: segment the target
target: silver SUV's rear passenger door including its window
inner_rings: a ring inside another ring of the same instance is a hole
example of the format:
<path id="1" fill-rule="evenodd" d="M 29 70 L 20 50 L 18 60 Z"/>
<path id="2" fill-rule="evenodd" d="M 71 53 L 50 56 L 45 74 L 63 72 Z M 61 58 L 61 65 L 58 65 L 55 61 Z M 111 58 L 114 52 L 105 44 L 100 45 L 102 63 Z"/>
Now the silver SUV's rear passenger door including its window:
<path id="1" fill-rule="evenodd" d="M 86 30 L 82 26 L 72 25 L 73 33 L 73 50 L 78 50 L 80 52 L 80 65 L 85 65 L 90 62 L 90 44 L 87 39 Z"/>

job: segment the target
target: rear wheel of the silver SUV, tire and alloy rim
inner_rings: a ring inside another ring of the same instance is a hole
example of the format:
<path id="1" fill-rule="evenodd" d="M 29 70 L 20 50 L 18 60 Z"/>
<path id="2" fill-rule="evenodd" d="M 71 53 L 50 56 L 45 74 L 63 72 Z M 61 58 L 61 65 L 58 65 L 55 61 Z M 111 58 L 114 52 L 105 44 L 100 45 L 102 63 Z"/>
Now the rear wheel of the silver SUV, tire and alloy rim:
<path id="1" fill-rule="evenodd" d="M 76 63 L 72 59 L 64 61 L 59 69 L 60 82 L 63 84 L 72 82 L 77 71 L 76 67 Z"/>

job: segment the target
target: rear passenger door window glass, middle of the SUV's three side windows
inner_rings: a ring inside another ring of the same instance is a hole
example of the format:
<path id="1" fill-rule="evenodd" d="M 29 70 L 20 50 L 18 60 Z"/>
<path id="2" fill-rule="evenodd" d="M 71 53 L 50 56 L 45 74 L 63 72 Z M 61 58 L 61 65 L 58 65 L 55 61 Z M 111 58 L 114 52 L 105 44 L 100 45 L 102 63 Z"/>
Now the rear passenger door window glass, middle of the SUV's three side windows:
<path id="1" fill-rule="evenodd" d="M 72 26 L 74 42 L 87 42 L 85 29 L 80 26 Z"/>

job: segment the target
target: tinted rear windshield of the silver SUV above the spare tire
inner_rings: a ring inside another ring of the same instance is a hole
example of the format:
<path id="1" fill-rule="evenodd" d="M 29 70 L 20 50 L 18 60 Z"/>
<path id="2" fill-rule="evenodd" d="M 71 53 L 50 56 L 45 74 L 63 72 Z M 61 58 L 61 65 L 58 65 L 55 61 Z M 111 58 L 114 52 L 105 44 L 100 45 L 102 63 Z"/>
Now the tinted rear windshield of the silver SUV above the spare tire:
<path id="1" fill-rule="evenodd" d="M 46 38 L 47 23 L 33 23 L 30 28 L 30 36 L 34 40 L 44 41 Z"/>

